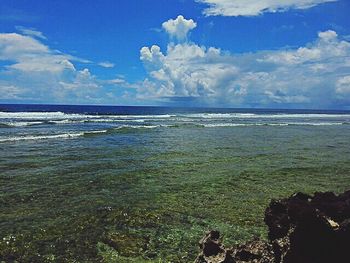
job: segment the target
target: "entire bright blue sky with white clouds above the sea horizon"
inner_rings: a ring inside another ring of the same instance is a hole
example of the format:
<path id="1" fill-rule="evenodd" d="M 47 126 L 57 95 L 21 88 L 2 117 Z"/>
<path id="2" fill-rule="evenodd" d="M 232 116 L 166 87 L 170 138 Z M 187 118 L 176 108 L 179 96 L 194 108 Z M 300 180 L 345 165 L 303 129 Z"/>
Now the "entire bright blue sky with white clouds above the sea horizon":
<path id="1" fill-rule="evenodd" d="M 349 0 L 1 0 L 0 103 L 350 109 Z"/>

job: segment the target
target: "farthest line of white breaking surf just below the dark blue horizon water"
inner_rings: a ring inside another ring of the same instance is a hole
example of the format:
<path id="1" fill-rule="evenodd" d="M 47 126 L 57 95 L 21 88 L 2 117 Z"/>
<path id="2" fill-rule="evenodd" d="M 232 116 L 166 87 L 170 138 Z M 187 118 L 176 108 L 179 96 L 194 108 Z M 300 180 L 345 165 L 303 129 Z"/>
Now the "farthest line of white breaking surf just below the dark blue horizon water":
<path id="1" fill-rule="evenodd" d="M 271 120 L 274 122 L 289 122 L 283 120 L 310 121 L 310 125 L 327 125 L 329 121 L 350 121 L 350 114 L 259 114 L 259 113 L 196 113 L 196 114 L 160 114 L 160 115 L 91 115 L 70 114 L 63 112 L 0 112 L 0 127 L 26 127 L 34 125 L 69 125 L 80 123 L 166 123 L 169 122 L 211 122 L 214 120 L 249 122 L 254 120 Z M 256 122 L 256 121 L 254 121 Z M 317 123 L 317 124 L 313 124 Z M 212 126 L 213 124 L 208 124 Z M 299 125 L 299 124 L 297 124 Z M 306 125 L 306 124 L 304 124 Z M 244 126 L 243 124 L 228 123 L 223 126 Z"/>

